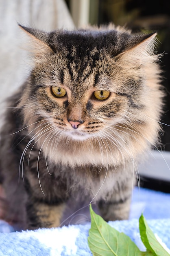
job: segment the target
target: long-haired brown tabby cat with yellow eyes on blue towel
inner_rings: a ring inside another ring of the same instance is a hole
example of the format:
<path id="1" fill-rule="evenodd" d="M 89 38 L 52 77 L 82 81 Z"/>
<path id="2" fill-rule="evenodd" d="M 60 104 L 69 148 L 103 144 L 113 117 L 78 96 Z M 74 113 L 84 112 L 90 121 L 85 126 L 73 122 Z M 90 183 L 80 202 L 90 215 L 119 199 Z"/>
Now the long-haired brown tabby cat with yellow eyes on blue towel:
<path id="1" fill-rule="evenodd" d="M 7 218 L 18 229 L 58 227 L 79 195 L 106 221 L 128 219 L 137 163 L 161 130 L 156 34 L 19 26 L 34 66 L 9 97 L 0 134 Z"/>

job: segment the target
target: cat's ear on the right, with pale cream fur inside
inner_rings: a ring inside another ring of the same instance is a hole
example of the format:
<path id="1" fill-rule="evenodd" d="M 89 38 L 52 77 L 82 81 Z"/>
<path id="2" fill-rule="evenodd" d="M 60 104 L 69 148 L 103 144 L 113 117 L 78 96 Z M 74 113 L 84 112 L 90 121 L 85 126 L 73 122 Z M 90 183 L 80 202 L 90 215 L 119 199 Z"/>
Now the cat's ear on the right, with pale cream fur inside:
<path id="1" fill-rule="evenodd" d="M 157 33 L 134 36 L 131 48 L 120 54 L 120 57 L 137 65 L 148 61 L 148 58 L 155 59 L 156 35 Z"/>

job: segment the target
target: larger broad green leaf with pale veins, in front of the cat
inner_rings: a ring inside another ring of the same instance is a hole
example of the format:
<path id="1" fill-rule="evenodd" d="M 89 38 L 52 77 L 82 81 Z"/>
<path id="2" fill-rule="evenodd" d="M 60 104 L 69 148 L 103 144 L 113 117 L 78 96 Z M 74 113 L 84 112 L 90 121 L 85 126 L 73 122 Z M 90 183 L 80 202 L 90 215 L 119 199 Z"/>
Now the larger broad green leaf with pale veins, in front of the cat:
<path id="1" fill-rule="evenodd" d="M 141 252 L 133 241 L 123 233 L 111 227 L 97 215 L 90 205 L 91 229 L 88 245 L 94 256 L 153 256 Z"/>

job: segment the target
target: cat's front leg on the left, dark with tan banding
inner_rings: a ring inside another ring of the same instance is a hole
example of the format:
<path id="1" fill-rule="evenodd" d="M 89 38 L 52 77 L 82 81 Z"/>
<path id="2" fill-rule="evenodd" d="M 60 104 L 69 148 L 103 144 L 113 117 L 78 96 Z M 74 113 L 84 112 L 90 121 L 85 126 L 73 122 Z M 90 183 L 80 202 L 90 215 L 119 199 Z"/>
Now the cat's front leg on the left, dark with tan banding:
<path id="1" fill-rule="evenodd" d="M 41 164 L 41 162 L 39 162 Z M 28 229 L 59 227 L 65 202 L 68 200 L 67 186 L 60 177 L 41 171 L 41 186 L 35 170 L 27 171 L 25 188 L 28 194 L 26 212 Z M 43 174 L 43 175 L 42 175 Z"/>

